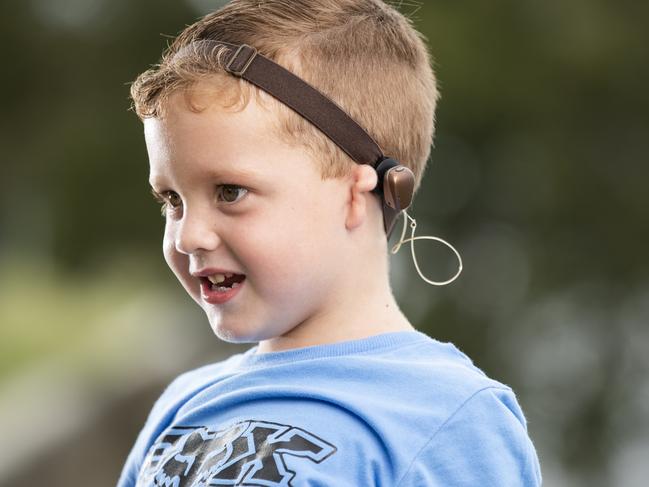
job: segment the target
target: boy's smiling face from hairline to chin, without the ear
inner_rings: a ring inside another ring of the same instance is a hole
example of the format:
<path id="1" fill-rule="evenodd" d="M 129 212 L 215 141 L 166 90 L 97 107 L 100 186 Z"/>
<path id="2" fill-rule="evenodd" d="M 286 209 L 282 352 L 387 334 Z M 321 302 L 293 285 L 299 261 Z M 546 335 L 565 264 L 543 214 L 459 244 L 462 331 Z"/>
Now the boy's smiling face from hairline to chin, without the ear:
<path id="1" fill-rule="evenodd" d="M 164 256 L 217 336 L 262 341 L 325 317 L 346 292 L 349 183 L 322 181 L 306 152 L 274 139 L 254 99 L 238 113 L 194 113 L 177 92 L 167 107 L 144 122 L 151 186 L 175 207 Z M 209 268 L 245 275 L 232 299 L 206 301 L 192 273 Z"/>

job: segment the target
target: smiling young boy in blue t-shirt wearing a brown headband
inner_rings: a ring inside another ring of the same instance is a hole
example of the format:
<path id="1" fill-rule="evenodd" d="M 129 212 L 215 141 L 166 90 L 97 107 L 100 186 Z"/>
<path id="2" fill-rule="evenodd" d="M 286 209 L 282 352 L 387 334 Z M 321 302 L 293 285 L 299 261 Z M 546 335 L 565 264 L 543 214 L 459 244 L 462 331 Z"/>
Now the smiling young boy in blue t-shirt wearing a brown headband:
<path id="1" fill-rule="evenodd" d="M 380 0 L 235 0 L 131 96 L 167 264 L 219 338 L 257 345 L 167 387 L 119 487 L 540 485 L 511 389 L 390 289 L 386 236 L 437 99 L 407 19 Z"/>

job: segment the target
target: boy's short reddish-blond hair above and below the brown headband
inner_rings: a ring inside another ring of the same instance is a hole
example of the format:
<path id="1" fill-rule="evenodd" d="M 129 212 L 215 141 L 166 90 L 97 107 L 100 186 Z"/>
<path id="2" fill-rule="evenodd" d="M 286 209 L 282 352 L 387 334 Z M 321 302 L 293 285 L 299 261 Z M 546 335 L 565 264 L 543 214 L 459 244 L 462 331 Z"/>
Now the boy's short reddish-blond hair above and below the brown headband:
<path id="1" fill-rule="evenodd" d="M 303 146 L 319 162 L 323 180 L 338 178 L 349 174 L 353 159 L 292 109 L 227 73 L 222 48 L 200 49 L 197 41 L 204 39 L 254 46 L 321 91 L 385 155 L 413 171 L 417 191 L 439 93 L 425 37 L 394 7 L 381 0 L 232 0 L 187 26 L 161 62 L 131 84 L 140 119 L 163 117 L 165 100 L 178 89 L 190 101 L 206 84 L 224 109 L 241 110 L 254 97 L 276 113 L 274 135 Z M 191 102 L 190 108 L 200 111 Z"/>

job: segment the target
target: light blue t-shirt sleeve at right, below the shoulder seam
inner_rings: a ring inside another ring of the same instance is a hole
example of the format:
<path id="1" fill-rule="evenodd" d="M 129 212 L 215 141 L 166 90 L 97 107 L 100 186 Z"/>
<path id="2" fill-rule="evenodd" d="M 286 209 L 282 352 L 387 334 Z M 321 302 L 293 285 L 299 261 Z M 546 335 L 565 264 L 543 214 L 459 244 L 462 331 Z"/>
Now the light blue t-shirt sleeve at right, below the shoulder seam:
<path id="1" fill-rule="evenodd" d="M 471 396 L 417 454 L 399 487 L 541 485 L 525 418 L 510 389 Z"/>

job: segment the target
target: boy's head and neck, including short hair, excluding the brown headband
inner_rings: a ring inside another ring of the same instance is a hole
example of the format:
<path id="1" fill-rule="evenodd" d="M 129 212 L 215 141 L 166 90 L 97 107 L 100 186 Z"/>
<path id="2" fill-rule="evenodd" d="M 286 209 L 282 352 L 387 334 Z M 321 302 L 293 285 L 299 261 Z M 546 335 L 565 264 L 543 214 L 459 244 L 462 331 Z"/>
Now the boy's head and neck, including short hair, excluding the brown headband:
<path id="1" fill-rule="evenodd" d="M 233 1 L 131 87 L 165 202 L 165 258 L 219 337 L 299 345 L 378 323 L 373 307 L 394 320 L 374 169 L 194 49 L 201 39 L 252 45 L 323 92 L 413 171 L 416 191 L 438 96 L 420 35 L 378 0 Z M 225 302 L 192 275 L 217 268 L 246 276 Z"/>

